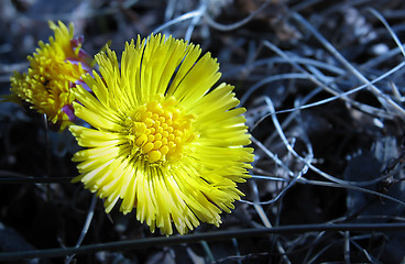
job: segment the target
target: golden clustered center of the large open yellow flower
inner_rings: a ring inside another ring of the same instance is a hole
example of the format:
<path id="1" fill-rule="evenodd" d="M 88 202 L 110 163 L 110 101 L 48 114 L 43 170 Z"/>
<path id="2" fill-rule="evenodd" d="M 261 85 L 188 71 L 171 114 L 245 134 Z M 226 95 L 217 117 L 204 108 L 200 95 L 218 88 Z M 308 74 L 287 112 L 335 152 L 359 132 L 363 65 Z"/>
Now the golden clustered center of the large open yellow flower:
<path id="1" fill-rule="evenodd" d="M 196 139 L 191 131 L 194 114 L 175 108 L 176 100 L 149 101 L 130 116 L 130 141 L 138 155 L 150 163 L 177 161 Z"/>

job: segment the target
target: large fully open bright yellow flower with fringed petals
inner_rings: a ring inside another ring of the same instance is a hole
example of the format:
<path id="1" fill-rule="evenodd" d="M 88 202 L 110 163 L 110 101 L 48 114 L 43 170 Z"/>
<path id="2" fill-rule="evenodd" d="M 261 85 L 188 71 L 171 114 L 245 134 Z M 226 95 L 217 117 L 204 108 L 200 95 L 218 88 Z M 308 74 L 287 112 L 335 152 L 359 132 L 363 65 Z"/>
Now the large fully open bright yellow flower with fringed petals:
<path id="1" fill-rule="evenodd" d="M 77 117 L 92 127 L 69 128 L 86 147 L 74 155 L 74 182 L 105 199 L 107 212 L 122 199 L 123 213 L 136 208 L 138 220 L 166 235 L 172 223 L 180 234 L 199 220 L 218 227 L 253 161 L 245 109 L 236 108 L 232 86 L 210 90 L 219 65 L 200 53 L 172 36 L 138 37 L 125 44 L 121 67 L 109 48 L 96 55 L 101 76 L 84 77 L 94 95 L 73 89 Z"/>

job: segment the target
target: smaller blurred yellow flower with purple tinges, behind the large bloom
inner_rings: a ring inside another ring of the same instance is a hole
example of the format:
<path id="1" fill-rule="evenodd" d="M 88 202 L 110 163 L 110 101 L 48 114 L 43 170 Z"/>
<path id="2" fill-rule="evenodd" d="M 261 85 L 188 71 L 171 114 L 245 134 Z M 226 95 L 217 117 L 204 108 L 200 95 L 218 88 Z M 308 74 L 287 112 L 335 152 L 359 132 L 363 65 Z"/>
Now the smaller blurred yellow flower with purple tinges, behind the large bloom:
<path id="1" fill-rule="evenodd" d="M 50 22 L 55 37 L 50 43 L 39 43 L 33 56 L 29 56 L 28 73 L 14 73 L 10 78 L 12 101 L 23 100 L 46 114 L 47 119 L 65 129 L 73 119 L 70 88 L 80 84 L 80 76 L 89 72 L 89 56 L 81 50 L 81 38 L 74 37 L 73 24 L 67 28 L 61 21 L 58 25 Z"/>

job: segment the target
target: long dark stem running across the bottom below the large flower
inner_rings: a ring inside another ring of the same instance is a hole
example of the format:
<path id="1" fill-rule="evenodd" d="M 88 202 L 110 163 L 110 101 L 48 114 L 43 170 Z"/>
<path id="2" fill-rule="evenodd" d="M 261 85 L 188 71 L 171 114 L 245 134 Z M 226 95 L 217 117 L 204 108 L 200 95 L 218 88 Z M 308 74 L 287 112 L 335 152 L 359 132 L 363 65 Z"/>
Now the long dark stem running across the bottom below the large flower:
<path id="1" fill-rule="evenodd" d="M 65 248 L 65 249 L 47 249 L 47 250 L 33 250 L 33 251 L 18 251 L 0 253 L 0 261 L 17 261 L 24 258 L 46 258 L 46 257 L 59 257 L 69 254 L 91 254 L 99 251 L 129 251 L 133 249 L 155 248 L 158 245 L 174 245 L 182 243 L 199 243 L 202 240 L 206 241 L 223 241 L 232 238 L 256 238 L 266 237 L 270 234 L 291 234 L 291 233 L 306 233 L 306 232 L 338 232 L 338 231 L 351 231 L 351 232 L 375 232 L 375 231 L 395 231 L 405 232 L 405 222 L 397 223 L 341 223 L 341 224 L 295 224 L 295 226 L 282 226 L 273 228 L 259 228 L 259 229 L 242 229 L 242 230 L 229 230 L 208 233 L 195 233 L 177 237 L 162 237 L 162 238 L 147 238 L 127 241 L 116 241 L 108 243 L 98 243 L 81 245 L 80 248 Z"/>

